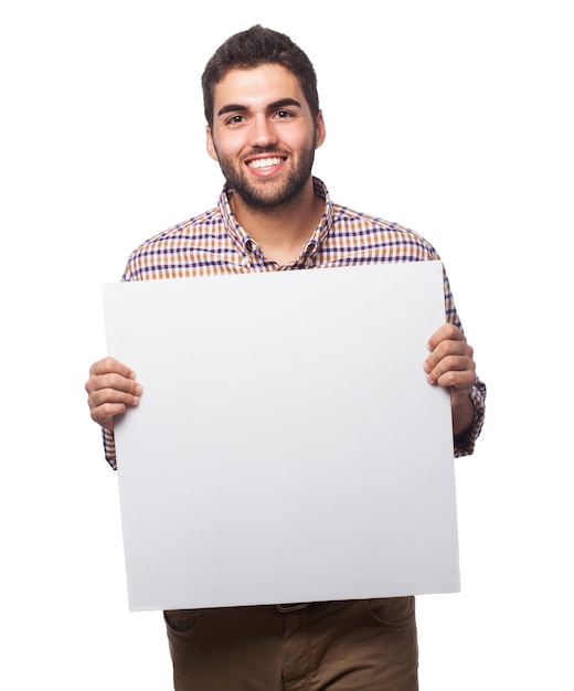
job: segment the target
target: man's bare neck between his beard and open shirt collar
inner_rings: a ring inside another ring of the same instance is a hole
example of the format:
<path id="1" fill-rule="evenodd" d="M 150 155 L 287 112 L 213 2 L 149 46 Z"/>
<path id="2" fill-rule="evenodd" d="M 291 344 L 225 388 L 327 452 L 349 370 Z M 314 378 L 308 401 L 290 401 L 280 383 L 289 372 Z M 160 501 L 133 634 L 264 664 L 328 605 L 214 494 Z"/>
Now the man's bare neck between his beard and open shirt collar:
<path id="1" fill-rule="evenodd" d="M 262 248 L 265 257 L 285 265 L 295 262 L 312 235 L 325 210 L 316 196 L 312 178 L 289 204 L 273 209 L 252 209 L 237 194 L 230 200 L 233 215 Z"/>

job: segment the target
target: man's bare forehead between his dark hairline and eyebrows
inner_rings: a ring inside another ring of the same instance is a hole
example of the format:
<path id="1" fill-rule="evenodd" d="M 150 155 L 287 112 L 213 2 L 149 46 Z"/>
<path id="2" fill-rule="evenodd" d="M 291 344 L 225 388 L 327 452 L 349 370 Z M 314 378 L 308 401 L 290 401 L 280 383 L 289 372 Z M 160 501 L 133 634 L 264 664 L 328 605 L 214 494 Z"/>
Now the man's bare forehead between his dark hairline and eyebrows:
<path id="1" fill-rule="evenodd" d="M 249 70 L 230 70 L 215 86 L 215 113 L 225 105 L 264 106 L 281 98 L 295 98 L 307 105 L 299 79 L 283 65 L 267 64 Z"/>

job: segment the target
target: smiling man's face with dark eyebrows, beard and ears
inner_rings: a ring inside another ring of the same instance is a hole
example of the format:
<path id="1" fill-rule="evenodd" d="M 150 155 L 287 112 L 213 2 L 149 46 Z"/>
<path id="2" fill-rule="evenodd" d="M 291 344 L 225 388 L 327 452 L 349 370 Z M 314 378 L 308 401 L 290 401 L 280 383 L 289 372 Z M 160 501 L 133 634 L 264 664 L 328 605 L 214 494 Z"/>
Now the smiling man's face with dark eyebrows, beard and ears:
<path id="1" fill-rule="evenodd" d="M 297 77 L 281 65 L 232 70 L 215 86 L 208 151 L 234 193 L 254 210 L 288 206 L 325 140 Z"/>

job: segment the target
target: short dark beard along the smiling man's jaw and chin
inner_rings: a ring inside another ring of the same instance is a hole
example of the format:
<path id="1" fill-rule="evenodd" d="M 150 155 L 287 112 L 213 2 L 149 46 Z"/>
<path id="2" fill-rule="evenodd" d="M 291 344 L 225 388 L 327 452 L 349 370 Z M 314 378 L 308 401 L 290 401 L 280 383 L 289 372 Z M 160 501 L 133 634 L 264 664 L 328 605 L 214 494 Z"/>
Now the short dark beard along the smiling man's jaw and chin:
<path id="1" fill-rule="evenodd" d="M 278 156 L 280 151 L 272 148 L 261 148 L 254 151 L 254 153 Z M 246 206 L 253 211 L 288 209 L 296 202 L 311 174 L 315 161 L 315 137 L 312 146 L 301 151 L 296 167 L 285 182 L 259 180 L 258 184 L 253 184 L 247 179 L 247 174 L 241 164 L 236 168 L 231 159 L 221 156 L 219 151 L 217 158 L 227 187 L 241 196 Z"/>

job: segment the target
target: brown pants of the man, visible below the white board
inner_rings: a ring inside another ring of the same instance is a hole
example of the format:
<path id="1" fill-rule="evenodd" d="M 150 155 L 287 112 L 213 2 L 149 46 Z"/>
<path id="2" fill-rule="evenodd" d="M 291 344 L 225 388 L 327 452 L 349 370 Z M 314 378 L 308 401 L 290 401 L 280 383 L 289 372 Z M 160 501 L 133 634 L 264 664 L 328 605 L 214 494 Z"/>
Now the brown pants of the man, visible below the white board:
<path id="1" fill-rule="evenodd" d="M 177 691 L 416 691 L 414 597 L 164 613 Z"/>

